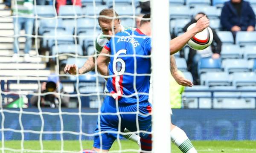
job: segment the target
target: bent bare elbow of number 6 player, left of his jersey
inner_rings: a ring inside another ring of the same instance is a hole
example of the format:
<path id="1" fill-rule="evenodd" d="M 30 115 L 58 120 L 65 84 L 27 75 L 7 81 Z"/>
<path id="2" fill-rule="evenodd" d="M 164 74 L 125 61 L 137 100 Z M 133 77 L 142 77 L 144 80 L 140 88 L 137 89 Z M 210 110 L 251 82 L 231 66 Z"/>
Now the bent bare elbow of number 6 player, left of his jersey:
<path id="1" fill-rule="evenodd" d="M 100 74 L 105 76 L 109 75 L 108 63 L 110 61 L 110 57 L 107 55 L 110 55 L 110 52 L 107 49 L 103 48 L 102 52 L 99 54 L 99 57 L 97 58 L 98 71 L 100 72 Z"/>

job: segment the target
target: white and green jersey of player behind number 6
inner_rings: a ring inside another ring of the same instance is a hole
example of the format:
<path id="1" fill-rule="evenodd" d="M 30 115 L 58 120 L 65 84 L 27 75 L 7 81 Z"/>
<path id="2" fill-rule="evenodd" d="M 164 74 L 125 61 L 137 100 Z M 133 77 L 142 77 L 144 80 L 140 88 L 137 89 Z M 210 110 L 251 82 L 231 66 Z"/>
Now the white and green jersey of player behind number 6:
<path id="1" fill-rule="evenodd" d="M 131 28 L 128 26 L 121 26 L 121 31 L 124 32 L 125 30 L 135 30 L 135 28 Z M 105 35 L 103 33 L 99 34 L 98 37 L 96 38 L 95 41 L 95 46 L 96 46 L 96 53 L 99 54 L 103 47 L 105 46 L 106 43 L 108 43 L 108 39 L 107 37 L 105 37 Z"/>

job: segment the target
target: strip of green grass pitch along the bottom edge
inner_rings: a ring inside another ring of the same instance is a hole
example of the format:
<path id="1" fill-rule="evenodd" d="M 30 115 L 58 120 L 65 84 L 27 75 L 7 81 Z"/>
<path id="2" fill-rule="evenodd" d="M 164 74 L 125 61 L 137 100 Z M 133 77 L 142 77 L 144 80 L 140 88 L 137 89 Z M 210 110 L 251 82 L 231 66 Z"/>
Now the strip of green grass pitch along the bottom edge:
<path id="1" fill-rule="evenodd" d="M 21 141 L 5 141 L 5 148 L 16 149 L 20 152 Z M 192 141 L 198 153 L 256 153 L 256 141 Z M 93 141 L 82 141 L 84 149 L 91 149 Z M 2 147 L 2 144 L 0 144 Z M 44 150 L 61 150 L 61 141 L 43 141 Z M 79 141 L 64 141 L 64 150 L 70 150 L 70 153 L 76 153 L 79 150 Z M 128 140 L 121 141 L 122 150 L 137 150 L 137 144 Z M 32 153 L 32 150 L 40 150 L 39 141 L 24 141 L 24 153 Z M 31 151 L 29 151 L 31 150 Z M 115 141 L 111 150 L 119 150 L 119 145 Z M 14 153 L 13 150 L 6 150 L 5 153 Z M 36 151 L 34 151 L 36 152 Z M 47 153 L 47 151 L 44 151 Z M 125 152 L 136 153 L 136 152 Z M 172 153 L 181 153 L 180 150 L 172 144 Z"/>

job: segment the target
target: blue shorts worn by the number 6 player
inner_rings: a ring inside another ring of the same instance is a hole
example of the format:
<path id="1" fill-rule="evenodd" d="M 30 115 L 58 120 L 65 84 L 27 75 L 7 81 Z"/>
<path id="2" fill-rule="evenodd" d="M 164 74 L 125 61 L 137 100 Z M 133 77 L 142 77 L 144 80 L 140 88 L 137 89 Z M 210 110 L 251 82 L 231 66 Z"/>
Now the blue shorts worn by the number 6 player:
<path id="1" fill-rule="evenodd" d="M 137 112 L 137 104 L 119 104 L 118 109 L 119 112 Z M 137 130 L 151 132 L 151 115 L 149 115 L 151 104 L 148 101 L 140 102 L 139 111 L 142 114 L 138 115 L 138 120 L 136 114 L 120 114 L 120 120 L 116 114 L 100 115 L 100 130 L 98 121 L 95 133 L 102 133 L 94 137 L 93 147 L 101 148 L 102 146 L 103 150 L 109 150 L 117 138 L 117 134 L 111 132 L 123 132 L 125 128 L 131 132 Z M 116 113 L 116 100 L 111 96 L 106 96 L 101 107 L 101 113 Z M 119 121 L 121 122 L 120 129 Z M 139 123 L 139 129 L 137 129 L 137 123 Z M 100 137 L 102 137 L 102 143 Z M 140 133 L 140 137 L 141 139 L 150 137 L 151 140 L 151 135 L 147 133 Z"/>

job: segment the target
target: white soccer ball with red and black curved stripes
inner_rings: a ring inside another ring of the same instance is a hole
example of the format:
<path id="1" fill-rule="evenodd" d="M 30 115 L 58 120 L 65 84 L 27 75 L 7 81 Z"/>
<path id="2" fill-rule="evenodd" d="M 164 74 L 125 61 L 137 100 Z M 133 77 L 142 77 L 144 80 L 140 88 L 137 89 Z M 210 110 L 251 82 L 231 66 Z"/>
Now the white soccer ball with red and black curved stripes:
<path id="1" fill-rule="evenodd" d="M 187 30 L 192 29 L 196 23 L 191 24 Z M 190 48 L 195 50 L 203 50 L 211 45 L 213 39 L 212 29 L 207 27 L 203 31 L 198 32 L 194 37 L 192 37 L 188 45 Z"/>

